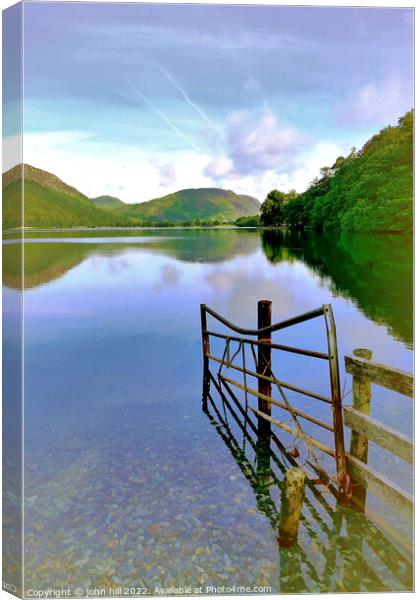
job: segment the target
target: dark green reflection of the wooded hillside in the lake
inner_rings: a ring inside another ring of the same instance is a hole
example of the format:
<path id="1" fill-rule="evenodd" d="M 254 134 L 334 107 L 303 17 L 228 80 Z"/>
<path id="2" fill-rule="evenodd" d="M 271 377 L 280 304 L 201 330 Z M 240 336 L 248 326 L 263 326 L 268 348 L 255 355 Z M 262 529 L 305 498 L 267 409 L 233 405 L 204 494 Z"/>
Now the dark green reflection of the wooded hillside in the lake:
<path id="1" fill-rule="evenodd" d="M 301 260 L 367 317 L 413 343 L 413 240 L 392 234 L 324 234 L 266 230 L 261 243 L 274 264 Z"/>

